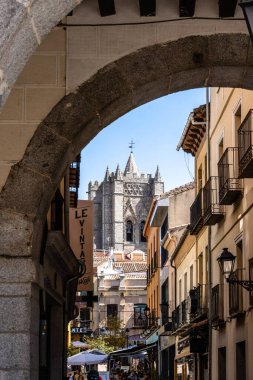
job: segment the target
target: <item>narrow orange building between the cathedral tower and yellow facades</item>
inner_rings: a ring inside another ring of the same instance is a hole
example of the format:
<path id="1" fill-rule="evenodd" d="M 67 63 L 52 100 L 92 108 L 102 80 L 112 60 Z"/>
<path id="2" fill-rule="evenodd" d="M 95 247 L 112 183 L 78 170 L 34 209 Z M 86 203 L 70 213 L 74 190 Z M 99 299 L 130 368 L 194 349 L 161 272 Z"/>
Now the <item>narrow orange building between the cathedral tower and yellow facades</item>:
<path id="1" fill-rule="evenodd" d="M 189 206 L 194 199 L 194 184 L 173 189 L 155 199 L 145 225 L 147 237 L 147 304 L 149 315 L 146 343 L 152 348 L 152 378 L 174 376 L 175 337 L 171 332 L 171 312 L 177 302 L 173 294 L 176 274 L 170 259 L 189 223 Z"/>

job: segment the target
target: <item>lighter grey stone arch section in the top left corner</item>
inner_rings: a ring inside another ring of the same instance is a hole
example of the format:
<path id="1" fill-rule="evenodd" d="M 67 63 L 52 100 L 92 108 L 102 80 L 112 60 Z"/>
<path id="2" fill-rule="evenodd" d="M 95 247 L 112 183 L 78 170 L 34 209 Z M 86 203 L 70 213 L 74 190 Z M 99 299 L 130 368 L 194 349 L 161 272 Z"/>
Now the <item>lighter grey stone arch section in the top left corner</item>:
<path id="1" fill-rule="evenodd" d="M 81 0 L 13 0 L 0 4 L 0 109 L 28 58 Z"/>

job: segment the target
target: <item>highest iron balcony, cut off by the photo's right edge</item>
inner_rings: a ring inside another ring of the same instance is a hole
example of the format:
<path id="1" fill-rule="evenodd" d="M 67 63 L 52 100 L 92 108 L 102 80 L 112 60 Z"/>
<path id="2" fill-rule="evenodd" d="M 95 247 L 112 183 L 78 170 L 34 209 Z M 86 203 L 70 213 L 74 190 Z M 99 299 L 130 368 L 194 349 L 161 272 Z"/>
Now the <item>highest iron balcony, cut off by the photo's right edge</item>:
<path id="1" fill-rule="evenodd" d="M 238 130 L 239 178 L 253 178 L 252 122 L 251 109 Z"/>

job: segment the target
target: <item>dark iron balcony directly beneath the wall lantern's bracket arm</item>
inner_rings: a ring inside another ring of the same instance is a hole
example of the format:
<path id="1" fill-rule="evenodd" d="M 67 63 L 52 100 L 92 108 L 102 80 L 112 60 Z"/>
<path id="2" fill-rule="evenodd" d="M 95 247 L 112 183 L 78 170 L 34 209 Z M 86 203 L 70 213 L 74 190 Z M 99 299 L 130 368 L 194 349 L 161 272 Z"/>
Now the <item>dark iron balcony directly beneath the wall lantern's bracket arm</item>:
<path id="1" fill-rule="evenodd" d="M 242 269 L 237 269 L 231 276 L 231 280 L 242 280 Z M 243 314 L 242 286 L 239 284 L 229 284 L 229 315 L 232 318 Z"/>

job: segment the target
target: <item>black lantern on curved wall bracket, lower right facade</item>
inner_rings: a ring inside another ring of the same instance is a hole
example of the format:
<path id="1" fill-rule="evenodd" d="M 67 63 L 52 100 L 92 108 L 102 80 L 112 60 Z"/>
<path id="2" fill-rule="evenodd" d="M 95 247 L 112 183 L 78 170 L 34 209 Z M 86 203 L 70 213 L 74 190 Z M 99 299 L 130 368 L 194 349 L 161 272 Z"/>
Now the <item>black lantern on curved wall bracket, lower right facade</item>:
<path id="1" fill-rule="evenodd" d="M 249 280 L 234 280 L 231 277 L 234 265 L 235 265 L 236 256 L 229 252 L 228 248 L 223 248 L 220 256 L 217 258 L 217 261 L 220 266 L 220 271 L 227 280 L 229 284 L 238 284 L 241 285 L 244 289 L 252 292 L 253 291 L 253 281 Z"/>

